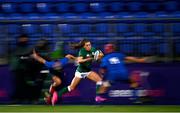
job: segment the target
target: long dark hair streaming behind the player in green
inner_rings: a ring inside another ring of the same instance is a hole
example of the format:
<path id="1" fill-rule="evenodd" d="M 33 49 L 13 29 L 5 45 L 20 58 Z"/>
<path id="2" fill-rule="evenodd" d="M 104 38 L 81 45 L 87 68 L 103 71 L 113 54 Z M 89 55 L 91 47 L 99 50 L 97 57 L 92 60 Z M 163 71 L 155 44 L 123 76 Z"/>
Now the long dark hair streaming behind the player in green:
<path id="1" fill-rule="evenodd" d="M 83 39 L 83 40 L 81 40 L 79 43 L 71 42 L 69 45 L 70 45 L 70 47 L 71 47 L 72 49 L 80 49 L 80 48 L 82 48 L 82 47 L 85 45 L 85 43 L 87 43 L 87 42 L 90 42 L 90 41 L 87 40 L 87 39 Z"/>

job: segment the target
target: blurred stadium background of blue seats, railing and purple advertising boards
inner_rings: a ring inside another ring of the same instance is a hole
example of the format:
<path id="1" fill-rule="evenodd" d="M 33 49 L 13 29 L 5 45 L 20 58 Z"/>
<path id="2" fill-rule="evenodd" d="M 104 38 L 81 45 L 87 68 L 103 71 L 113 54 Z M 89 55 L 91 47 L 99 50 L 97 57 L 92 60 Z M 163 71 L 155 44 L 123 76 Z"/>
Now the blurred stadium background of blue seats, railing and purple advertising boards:
<path id="1" fill-rule="evenodd" d="M 154 56 L 151 63 L 127 64 L 131 74 L 138 72 L 142 83 L 140 104 L 180 104 L 178 0 L 0 0 L 0 10 L 1 104 L 44 104 L 43 94 L 51 83 L 48 74 L 40 73 L 45 69 L 42 65 L 25 60 L 22 67 L 27 69 L 20 77 L 25 85 L 20 89 L 23 96 L 19 97 L 21 101 L 13 99 L 17 85 L 13 72 L 19 65 L 12 57 L 18 37 L 24 34 L 29 39 L 28 49 L 22 50 L 24 55 L 30 48 L 39 47 L 41 54 L 53 60 L 65 54 L 77 55 L 68 43 L 83 38 L 101 50 L 105 43 L 113 42 L 127 55 Z M 94 67 L 97 70 L 98 65 Z M 75 66 L 66 68 L 69 83 Z M 83 87 L 87 82 L 82 81 L 59 103 L 95 104 L 95 85 L 89 82 L 87 89 Z M 110 101 L 105 104 L 133 104 L 126 85 L 115 85 L 107 96 Z"/>

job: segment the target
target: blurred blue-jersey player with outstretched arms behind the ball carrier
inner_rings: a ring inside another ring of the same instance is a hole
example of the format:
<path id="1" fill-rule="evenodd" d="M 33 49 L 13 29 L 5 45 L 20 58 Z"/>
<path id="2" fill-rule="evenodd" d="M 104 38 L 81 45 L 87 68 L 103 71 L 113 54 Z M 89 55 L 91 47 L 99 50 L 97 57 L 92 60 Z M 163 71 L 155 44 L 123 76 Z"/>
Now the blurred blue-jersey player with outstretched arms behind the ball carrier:
<path id="1" fill-rule="evenodd" d="M 62 68 L 69 63 L 70 60 L 75 60 L 76 57 L 74 57 L 73 55 L 66 55 L 64 58 L 62 59 L 58 59 L 56 61 L 46 61 L 44 58 L 40 57 L 35 50 L 33 50 L 33 54 L 32 54 L 32 57 L 44 64 L 50 71 L 50 73 L 52 74 L 52 81 L 53 83 L 51 84 L 50 86 L 50 89 L 49 89 L 49 93 L 46 93 L 45 94 L 45 101 L 46 103 L 48 104 L 52 104 L 54 105 L 57 100 L 58 100 L 58 94 L 57 94 L 57 91 L 58 88 L 60 86 L 63 87 L 63 72 L 62 72 Z"/>

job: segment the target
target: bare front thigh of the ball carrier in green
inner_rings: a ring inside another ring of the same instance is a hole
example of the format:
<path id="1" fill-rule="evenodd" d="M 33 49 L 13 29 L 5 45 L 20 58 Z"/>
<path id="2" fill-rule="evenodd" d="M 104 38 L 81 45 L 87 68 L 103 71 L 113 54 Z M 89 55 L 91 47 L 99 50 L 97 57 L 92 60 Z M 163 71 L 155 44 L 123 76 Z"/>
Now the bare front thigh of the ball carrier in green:
<path id="1" fill-rule="evenodd" d="M 87 78 L 94 81 L 94 82 L 102 81 L 102 78 L 99 76 L 99 74 L 97 74 L 94 71 L 91 71 L 89 73 L 89 75 L 87 76 Z"/>

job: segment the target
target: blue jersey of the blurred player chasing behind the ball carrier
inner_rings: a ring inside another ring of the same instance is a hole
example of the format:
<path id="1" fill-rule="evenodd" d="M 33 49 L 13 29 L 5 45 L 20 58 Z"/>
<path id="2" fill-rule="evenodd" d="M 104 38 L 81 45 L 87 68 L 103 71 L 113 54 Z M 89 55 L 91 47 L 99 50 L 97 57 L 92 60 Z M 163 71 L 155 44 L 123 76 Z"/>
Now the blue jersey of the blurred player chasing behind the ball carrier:
<path id="1" fill-rule="evenodd" d="M 58 62 L 61 63 L 61 67 L 64 67 L 68 63 L 68 58 L 59 59 Z M 48 68 L 53 68 L 54 63 L 57 61 L 46 61 L 45 66 Z"/>

